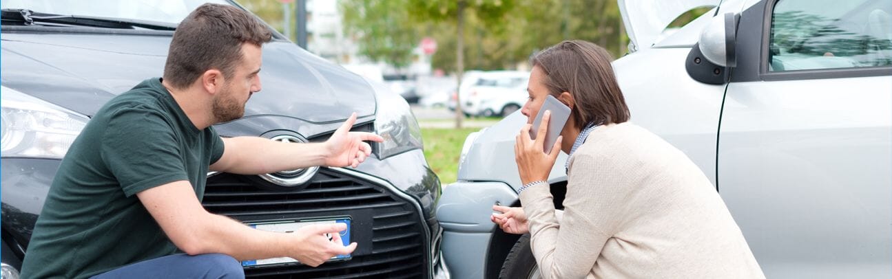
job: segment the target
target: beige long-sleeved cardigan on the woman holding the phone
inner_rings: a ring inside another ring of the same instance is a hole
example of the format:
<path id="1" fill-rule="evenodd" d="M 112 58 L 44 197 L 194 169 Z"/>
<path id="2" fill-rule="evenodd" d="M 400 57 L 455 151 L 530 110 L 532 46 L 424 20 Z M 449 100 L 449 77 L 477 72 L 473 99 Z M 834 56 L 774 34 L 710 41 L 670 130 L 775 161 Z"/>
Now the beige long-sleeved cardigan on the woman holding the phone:
<path id="1" fill-rule="evenodd" d="M 764 278 L 709 179 L 639 126 L 592 131 L 566 188 L 559 222 L 547 184 L 520 194 L 543 278 Z"/>

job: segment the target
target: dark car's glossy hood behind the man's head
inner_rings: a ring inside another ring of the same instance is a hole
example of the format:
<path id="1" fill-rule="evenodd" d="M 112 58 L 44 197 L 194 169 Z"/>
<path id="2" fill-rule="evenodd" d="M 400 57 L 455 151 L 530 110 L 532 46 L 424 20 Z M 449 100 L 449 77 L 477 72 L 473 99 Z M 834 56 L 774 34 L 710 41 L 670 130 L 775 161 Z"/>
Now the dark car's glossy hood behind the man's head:
<path id="1" fill-rule="evenodd" d="M 161 76 L 172 33 L 163 35 L 5 32 L 0 79 L 4 86 L 93 116 L 114 96 Z M 375 114 L 375 93 L 361 77 L 274 41 L 263 47 L 263 90 L 245 116 L 287 116 L 336 122 L 352 112 Z"/>

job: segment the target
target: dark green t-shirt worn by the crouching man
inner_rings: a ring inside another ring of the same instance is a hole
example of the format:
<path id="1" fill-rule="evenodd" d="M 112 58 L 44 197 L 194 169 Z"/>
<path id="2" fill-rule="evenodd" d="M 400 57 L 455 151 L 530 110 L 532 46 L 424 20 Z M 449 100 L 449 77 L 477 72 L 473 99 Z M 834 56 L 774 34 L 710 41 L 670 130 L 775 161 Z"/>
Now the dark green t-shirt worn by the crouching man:
<path id="1" fill-rule="evenodd" d="M 23 278 L 82 278 L 177 250 L 136 193 L 189 180 L 201 200 L 223 155 L 153 78 L 110 100 L 71 145 L 46 195 Z"/>

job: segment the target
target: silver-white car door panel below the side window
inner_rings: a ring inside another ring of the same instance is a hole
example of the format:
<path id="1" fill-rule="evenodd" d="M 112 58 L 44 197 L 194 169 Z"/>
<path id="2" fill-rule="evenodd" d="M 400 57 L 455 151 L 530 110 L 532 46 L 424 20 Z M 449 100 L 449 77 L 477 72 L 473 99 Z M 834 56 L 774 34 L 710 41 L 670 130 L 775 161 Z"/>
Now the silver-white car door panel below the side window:
<path id="1" fill-rule="evenodd" d="M 719 193 L 765 275 L 892 277 L 890 92 L 892 76 L 729 85 Z"/>

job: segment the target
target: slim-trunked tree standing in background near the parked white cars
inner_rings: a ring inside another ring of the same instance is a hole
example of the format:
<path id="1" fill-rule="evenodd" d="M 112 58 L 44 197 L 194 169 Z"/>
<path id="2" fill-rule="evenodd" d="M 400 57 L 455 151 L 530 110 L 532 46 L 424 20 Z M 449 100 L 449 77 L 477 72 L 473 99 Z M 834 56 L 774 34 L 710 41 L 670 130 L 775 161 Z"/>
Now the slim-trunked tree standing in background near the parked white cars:
<path id="1" fill-rule="evenodd" d="M 483 21 L 488 26 L 499 27 L 505 24 L 504 15 L 514 6 L 513 0 L 408 0 L 410 14 L 416 20 L 438 20 L 454 22 L 457 30 L 456 36 L 456 79 L 461 85 L 461 76 L 464 75 L 464 44 L 465 44 L 465 10 Z M 456 86 L 458 88 L 458 86 Z M 461 120 L 464 113 L 461 110 L 461 97 L 456 94 L 455 126 L 461 128 Z"/>

